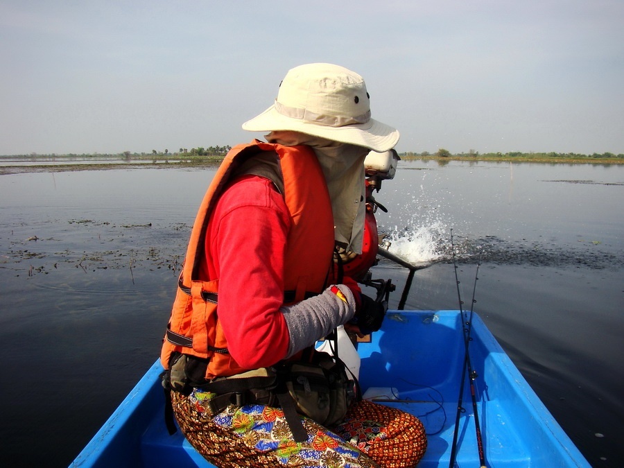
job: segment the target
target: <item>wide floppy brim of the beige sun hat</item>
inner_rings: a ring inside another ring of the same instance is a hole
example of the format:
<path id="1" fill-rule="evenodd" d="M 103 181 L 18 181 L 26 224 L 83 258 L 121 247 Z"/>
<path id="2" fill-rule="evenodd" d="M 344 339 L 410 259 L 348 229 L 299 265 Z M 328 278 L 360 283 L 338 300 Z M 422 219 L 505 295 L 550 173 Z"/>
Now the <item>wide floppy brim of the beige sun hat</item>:
<path id="1" fill-rule="evenodd" d="M 250 132 L 292 130 L 306 135 L 340 141 L 340 143 L 363 146 L 379 153 L 391 150 L 399 141 L 399 130 L 375 119 L 370 119 L 366 123 L 330 127 L 284 116 L 275 110 L 274 105 L 259 116 L 243 123 L 243 130 Z"/>

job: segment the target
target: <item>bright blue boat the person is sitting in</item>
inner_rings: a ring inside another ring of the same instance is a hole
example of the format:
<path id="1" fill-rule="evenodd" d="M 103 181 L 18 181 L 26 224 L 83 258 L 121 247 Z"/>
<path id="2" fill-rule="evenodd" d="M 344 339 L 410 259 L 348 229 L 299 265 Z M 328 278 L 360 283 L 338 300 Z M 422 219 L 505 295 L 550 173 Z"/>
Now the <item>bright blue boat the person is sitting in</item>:
<path id="1" fill-rule="evenodd" d="M 470 385 L 465 368 L 465 311 L 388 311 L 370 343 L 358 343 L 360 383 L 375 401 L 422 420 L 428 447 L 419 467 L 589 467 L 476 313 L 471 316 Z M 164 422 L 156 361 L 71 467 L 212 467 Z M 460 388 L 462 410 L 458 411 Z M 456 415 L 460 415 L 456 424 Z M 456 440 L 456 444 L 453 444 Z"/>

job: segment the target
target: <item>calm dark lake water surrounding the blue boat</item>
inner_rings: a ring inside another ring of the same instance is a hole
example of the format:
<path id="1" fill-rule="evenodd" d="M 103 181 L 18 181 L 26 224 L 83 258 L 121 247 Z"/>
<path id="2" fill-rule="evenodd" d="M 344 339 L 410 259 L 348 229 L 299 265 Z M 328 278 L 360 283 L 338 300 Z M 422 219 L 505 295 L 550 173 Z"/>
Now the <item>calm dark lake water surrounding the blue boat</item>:
<path id="1" fill-rule="evenodd" d="M 64 467 L 159 355 L 214 169 L 0 175 L 0 459 Z M 432 265 L 406 309 L 475 311 L 594 467 L 624 458 L 624 166 L 401 162 L 390 250 Z M 383 259 L 397 306 L 407 270 Z"/>

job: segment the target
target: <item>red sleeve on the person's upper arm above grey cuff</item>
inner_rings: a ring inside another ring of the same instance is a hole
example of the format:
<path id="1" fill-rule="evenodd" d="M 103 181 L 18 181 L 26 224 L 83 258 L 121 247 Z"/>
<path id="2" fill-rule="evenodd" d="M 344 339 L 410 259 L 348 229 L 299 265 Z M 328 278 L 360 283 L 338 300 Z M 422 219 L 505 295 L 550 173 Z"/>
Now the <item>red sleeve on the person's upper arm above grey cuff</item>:
<path id="1" fill-rule="evenodd" d="M 272 182 L 246 176 L 217 203 L 207 230 L 207 263 L 219 278 L 218 317 L 229 353 L 242 367 L 286 356 L 284 255 L 290 218 Z"/>

